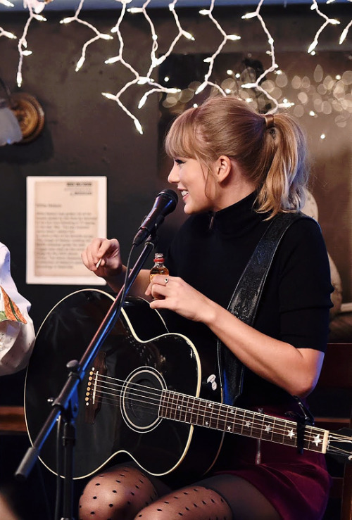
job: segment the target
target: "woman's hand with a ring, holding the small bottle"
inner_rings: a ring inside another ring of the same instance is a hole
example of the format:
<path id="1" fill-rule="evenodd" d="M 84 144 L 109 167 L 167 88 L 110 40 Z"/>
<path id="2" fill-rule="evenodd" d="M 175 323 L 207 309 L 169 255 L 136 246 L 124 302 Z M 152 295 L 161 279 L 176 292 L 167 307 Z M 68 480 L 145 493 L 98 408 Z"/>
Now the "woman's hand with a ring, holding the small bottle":
<path id="1" fill-rule="evenodd" d="M 215 305 L 182 278 L 163 274 L 153 277 L 146 296 L 154 298 L 150 304 L 152 309 L 173 310 L 194 322 L 207 322 Z"/>

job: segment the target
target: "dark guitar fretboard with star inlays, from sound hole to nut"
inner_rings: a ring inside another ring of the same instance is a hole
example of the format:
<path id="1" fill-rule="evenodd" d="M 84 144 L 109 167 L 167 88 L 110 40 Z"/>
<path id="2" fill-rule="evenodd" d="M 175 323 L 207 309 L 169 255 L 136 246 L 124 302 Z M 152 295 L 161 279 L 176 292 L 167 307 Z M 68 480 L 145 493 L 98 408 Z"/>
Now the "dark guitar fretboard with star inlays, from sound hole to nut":
<path id="1" fill-rule="evenodd" d="M 246 437 L 269 440 L 288 446 L 297 445 L 297 423 L 252 412 L 191 395 L 165 390 L 161 395 L 159 416 L 194 426 L 204 426 Z M 303 448 L 326 453 L 329 431 L 314 426 L 304 429 Z"/>

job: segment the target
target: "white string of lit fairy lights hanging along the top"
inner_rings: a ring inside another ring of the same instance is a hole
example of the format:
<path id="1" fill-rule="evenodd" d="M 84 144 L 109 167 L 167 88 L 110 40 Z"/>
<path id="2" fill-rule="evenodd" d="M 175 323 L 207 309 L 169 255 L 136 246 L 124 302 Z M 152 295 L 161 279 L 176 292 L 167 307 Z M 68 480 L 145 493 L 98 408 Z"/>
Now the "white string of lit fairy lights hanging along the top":
<path id="1" fill-rule="evenodd" d="M 59 1 L 59 0 L 23 0 L 23 8 L 28 11 L 28 18 L 25 23 L 25 26 L 23 27 L 23 33 L 18 37 L 17 35 L 13 34 L 12 32 L 7 31 L 3 27 L 0 26 L 0 37 L 6 37 L 8 39 L 18 39 L 18 54 L 19 54 L 19 60 L 18 60 L 18 70 L 17 70 L 17 84 L 18 87 L 20 87 L 23 84 L 23 60 L 27 58 L 27 56 L 30 56 L 32 54 L 32 51 L 30 50 L 30 46 L 27 42 L 27 34 L 28 30 L 30 28 L 30 25 L 32 23 L 37 22 L 45 22 L 46 18 L 41 14 L 44 11 L 44 8 L 46 4 L 49 4 L 51 1 Z M 153 21 L 151 17 L 149 16 L 150 7 L 152 6 L 153 0 L 145 0 L 142 6 L 134 6 L 134 0 L 113 0 L 116 2 L 118 7 L 118 20 L 115 23 L 115 25 L 111 28 L 111 34 L 106 34 L 101 32 L 95 25 L 92 23 L 88 23 L 86 20 L 84 20 L 84 15 L 82 13 L 82 8 L 84 6 L 85 0 L 80 0 L 79 4 L 77 6 L 77 9 L 75 10 L 75 13 L 73 16 L 70 16 L 68 18 L 63 18 L 60 23 L 68 25 L 71 23 L 78 23 L 81 25 L 84 25 L 85 27 L 89 28 L 92 32 L 92 37 L 87 40 L 82 46 L 82 52 L 81 56 L 78 59 L 75 70 L 76 72 L 79 72 L 80 69 L 83 67 L 88 51 L 89 46 L 94 44 L 99 39 L 116 39 L 118 40 L 118 53 L 115 56 L 112 56 L 111 58 L 106 58 L 105 63 L 106 65 L 113 65 L 115 63 L 119 63 L 122 67 L 125 67 L 127 70 L 129 70 L 132 73 L 132 80 L 129 82 L 126 82 L 125 84 L 120 87 L 120 89 L 116 93 L 111 92 L 102 92 L 101 94 L 105 96 L 107 99 L 111 101 L 115 101 L 115 103 L 118 104 L 118 106 L 131 118 L 131 120 L 134 122 L 135 127 L 137 128 L 138 132 L 140 134 L 143 134 L 143 127 L 141 122 L 139 121 L 139 118 L 137 118 L 137 115 L 132 113 L 123 103 L 123 94 L 130 89 L 133 85 L 143 85 L 144 94 L 139 99 L 139 102 L 137 103 L 138 108 L 142 108 L 144 104 L 146 103 L 147 99 L 151 94 L 177 94 L 180 93 L 180 89 L 173 87 L 165 87 L 165 85 L 162 85 L 158 82 L 156 82 L 153 79 L 153 72 L 158 68 L 165 60 L 167 60 L 172 51 L 174 51 L 175 46 L 177 45 L 177 42 L 179 42 L 182 38 L 187 38 L 190 41 L 194 42 L 196 51 L 196 39 L 194 38 L 194 35 L 190 32 L 184 30 L 182 27 L 182 24 L 180 22 L 180 18 L 177 14 L 177 2 L 178 0 L 170 0 L 168 4 L 168 10 L 170 11 L 170 14 L 173 17 L 173 20 L 175 21 L 175 25 L 177 27 L 177 34 L 172 39 L 172 42 L 168 46 L 168 50 L 166 52 L 163 52 L 161 56 L 158 56 L 158 34 L 156 33 L 156 27 L 153 24 Z M 218 32 L 221 35 L 221 42 L 218 44 L 218 48 L 215 49 L 215 51 L 210 55 L 204 58 L 204 62 L 208 65 L 208 70 L 206 71 L 202 82 L 197 86 L 195 90 L 195 95 L 201 93 L 203 89 L 206 87 L 212 87 L 213 89 L 218 89 L 220 93 L 224 96 L 227 95 L 227 89 L 223 89 L 222 86 L 218 83 L 215 83 L 212 80 L 212 74 L 213 74 L 213 68 L 215 64 L 216 58 L 220 55 L 222 52 L 222 49 L 226 46 L 228 42 L 236 42 L 237 40 L 241 39 L 239 34 L 227 34 L 225 32 L 224 28 L 218 20 L 216 20 L 213 11 L 215 7 L 215 1 L 216 0 L 209 0 L 209 6 L 208 8 L 202 8 L 199 11 L 199 14 L 202 16 L 206 16 L 209 18 L 210 22 L 216 27 Z M 258 5 L 256 9 L 253 11 L 250 11 L 242 16 L 242 19 L 245 20 L 246 23 L 253 23 L 253 20 L 256 19 L 260 23 L 260 26 L 263 29 L 263 32 L 265 33 L 265 36 L 268 40 L 268 50 L 267 54 L 271 58 L 271 63 L 268 66 L 266 70 L 263 70 L 263 72 L 256 77 L 256 80 L 253 82 L 246 82 L 241 84 L 241 89 L 254 89 L 261 95 L 265 96 L 266 99 L 270 102 L 270 110 L 268 112 L 275 113 L 279 108 L 289 108 L 294 103 L 289 101 L 288 99 L 283 99 L 282 101 L 278 101 L 275 96 L 272 96 L 270 94 L 270 91 L 268 88 L 265 88 L 265 84 L 268 84 L 268 82 L 263 81 L 268 75 L 271 74 L 281 74 L 282 71 L 279 69 L 279 64 L 276 61 L 275 58 L 275 42 L 272 38 L 272 35 L 270 34 L 270 31 L 268 30 L 267 25 L 265 24 L 265 20 L 263 18 L 261 9 L 264 4 L 265 0 L 258 0 Z M 332 4 L 335 0 L 326 0 L 326 4 Z M 349 2 L 352 2 L 352 0 L 347 0 Z M 9 0 L 0 0 L 0 4 L 3 4 L 4 6 L 11 9 L 13 7 L 13 4 Z M 322 18 L 322 25 L 320 25 L 318 31 L 315 33 L 313 37 L 313 41 L 310 44 L 310 46 L 307 49 L 307 52 L 311 55 L 315 54 L 315 49 L 317 48 L 319 44 L 319 37 L 320 34 L 325 30 L 325 28 L 328 25 L 340 25 L 340 21 L 336 20 L 334 18 L 329 18 L 322 9 L 318 6 L 317 0 L 312 0 L 310 9 L 312 11 L 315 11 L 315 13 Z M 124 48 L 125 48 L 125 42 L 122 37 L 122 23 L 125 20 L 127 16 L 130 15 L 139 15 L 143 16 L 146 20 L 146 23 L 149 24 L 150 34 L 151 34 L 151 52 L 150 52 L 150 65 L 149 69 L 142 73 L 138 71 L 132 63 L 126 60 L 124 55 Z M 348 37 L 348 32 L 352 26 L 352 20 L 346 25 L 346 27 L 343 28 L 339 35 L 339 44 L 342 44 L 344 40 Z M 352 31 L 351 31 L 352 32 Z"/>

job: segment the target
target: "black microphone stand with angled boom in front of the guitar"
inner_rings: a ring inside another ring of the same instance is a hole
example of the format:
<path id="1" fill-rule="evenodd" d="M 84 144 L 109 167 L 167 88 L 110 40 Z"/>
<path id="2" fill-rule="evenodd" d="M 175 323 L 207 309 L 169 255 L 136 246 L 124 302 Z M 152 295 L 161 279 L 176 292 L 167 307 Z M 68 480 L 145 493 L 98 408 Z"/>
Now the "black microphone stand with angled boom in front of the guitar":
<path id="1" fill-rule="evenodd" d="M 61 418 L 63 419 L 62 445 L 64 449 L 63 516 L 61 520 L 73 520 L 73 447 L 75 445 L 75 418 L 78 413 L 77 387 L 84 378 L 84 374 L 89 367 L 89 364 L 91 364 L 94 357 L 96 357 L 103 341 L 118 321 L 120 316 L 120 312 L 118 311 L 121 310 L 121 303 L 123 303 L 122 296 L 126 296 L 130 291 L 139 271 L 142 269 L 153 248 L 155 248 L 156 242 L 157 236 L 154 231 L 153 234 L 149 235 L 146 239 L 143 251 L 139 255 L 134 267 L 131 269 L 130 274 L 128 274 L 126 283 L 122 286 L 118 296 L 116 296 L 113 304 L 106 313 L 99 329 L 96 331 L 92 341 L 89 343 L 87 350 L 82 355 L 80 362 L 77 360 L 68 362 L 67 367 L 70 370 L 68 379 L 60 394 L 54 400 L 52 404 L 53 410 L 50 412 L 49 417 L 46 419 L 42 429 L 39 431 L 34 443 L 32 443 L 32 447 L 28 448 L 17 471 L 15 472 L 15 477 L 18 478 L 18 480 L 24 481 L 27 478 L 34 463 L 39 457 L 42 445 L 53 429 L 56 420 L 61 415 Z"/>

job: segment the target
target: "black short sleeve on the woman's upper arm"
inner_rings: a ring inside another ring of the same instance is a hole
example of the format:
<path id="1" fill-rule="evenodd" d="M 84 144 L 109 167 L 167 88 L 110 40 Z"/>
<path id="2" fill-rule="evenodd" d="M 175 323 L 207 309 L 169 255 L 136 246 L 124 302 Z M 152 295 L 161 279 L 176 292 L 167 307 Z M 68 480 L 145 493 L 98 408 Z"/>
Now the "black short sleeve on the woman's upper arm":
<path id="1" fill-rule="evenodd" d="M 332 307 L 329 260 L 319 224 L 296 222 L 284 237 L 280 260 L 282 340 L 297 348 L 325 350 Z"/>

